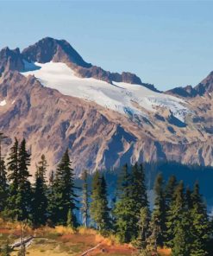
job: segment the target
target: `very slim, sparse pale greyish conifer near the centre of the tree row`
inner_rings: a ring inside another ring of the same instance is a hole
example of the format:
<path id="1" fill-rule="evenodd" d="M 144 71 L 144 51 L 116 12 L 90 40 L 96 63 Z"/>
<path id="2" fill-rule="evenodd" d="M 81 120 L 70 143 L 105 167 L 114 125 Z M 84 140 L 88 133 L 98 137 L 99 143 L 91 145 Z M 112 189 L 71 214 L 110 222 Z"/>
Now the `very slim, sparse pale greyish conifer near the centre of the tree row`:
<path id="1" fill-rule="evenodd" d="M 82 189 L 82 207 L 81 212 L 83 216 L 83 223 L 85 224 L 85 227 L 88 227 L 88 221 L 89 221 L 89 189 L 88 189 L 88 174 L 87 170 L 83 172 L 82 175 L 83 180 L 83 189 Z"/>

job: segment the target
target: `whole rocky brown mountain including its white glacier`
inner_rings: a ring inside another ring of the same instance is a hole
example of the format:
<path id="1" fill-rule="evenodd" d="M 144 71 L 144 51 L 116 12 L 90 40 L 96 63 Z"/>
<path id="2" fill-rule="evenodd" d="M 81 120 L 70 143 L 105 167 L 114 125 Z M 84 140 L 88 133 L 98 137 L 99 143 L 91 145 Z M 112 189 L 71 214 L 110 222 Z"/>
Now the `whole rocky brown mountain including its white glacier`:
<path id="1" fill-rule="evenodd" d="M 0 57 L 0 131 L 7 148 L 27 139 L 32 172 L 42 153 L 52 170 L 66 147 L 77 174 L 135 161 L 213 165 L 212 74 L 185 96 L 93 66 L 64 40 Z"/>

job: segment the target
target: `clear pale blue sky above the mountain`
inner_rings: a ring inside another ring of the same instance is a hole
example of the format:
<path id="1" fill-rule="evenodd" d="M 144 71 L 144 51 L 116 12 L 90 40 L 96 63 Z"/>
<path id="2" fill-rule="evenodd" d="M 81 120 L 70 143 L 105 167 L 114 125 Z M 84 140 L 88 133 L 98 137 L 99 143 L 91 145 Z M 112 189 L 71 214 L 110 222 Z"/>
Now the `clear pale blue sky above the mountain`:
<path id="1" fill-rule="evenodd" d="M 213 2 L 0 1 L 0 48 L 66 39 L 85 61 L 160 90 L 213 70 Z"/>

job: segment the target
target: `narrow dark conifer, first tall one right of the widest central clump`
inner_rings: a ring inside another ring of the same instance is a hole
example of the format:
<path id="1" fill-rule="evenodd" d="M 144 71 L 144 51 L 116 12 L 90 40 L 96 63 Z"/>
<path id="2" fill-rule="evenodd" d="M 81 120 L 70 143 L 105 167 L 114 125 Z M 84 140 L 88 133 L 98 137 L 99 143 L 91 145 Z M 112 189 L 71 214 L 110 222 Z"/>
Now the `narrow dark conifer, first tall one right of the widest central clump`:
<path id="1" fill-rule="evenodd" d="M 158 230 L 158 246 L 164 245 L 166 233 L 166 203 L 163 185 L 163 176 L 159 174 L 154 184 L 155 200 L 153 206 L 153 225 L 155 225 L 156 230 Z"/>

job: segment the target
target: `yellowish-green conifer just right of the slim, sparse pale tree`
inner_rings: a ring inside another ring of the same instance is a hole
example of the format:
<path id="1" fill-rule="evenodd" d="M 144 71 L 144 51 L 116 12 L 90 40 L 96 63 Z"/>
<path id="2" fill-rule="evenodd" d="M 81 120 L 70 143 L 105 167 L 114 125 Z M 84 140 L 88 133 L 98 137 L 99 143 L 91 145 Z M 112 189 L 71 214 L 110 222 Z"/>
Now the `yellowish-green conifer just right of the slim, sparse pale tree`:
<path id="1" fill-rule="evenodd" d="M 91 218 L 97 229 L 105 234 L 110 230 L 110 208 L 108 207 L 106 182 L 103 176 L 96 171 L 91 189 Z"/>

